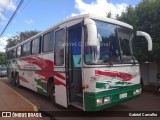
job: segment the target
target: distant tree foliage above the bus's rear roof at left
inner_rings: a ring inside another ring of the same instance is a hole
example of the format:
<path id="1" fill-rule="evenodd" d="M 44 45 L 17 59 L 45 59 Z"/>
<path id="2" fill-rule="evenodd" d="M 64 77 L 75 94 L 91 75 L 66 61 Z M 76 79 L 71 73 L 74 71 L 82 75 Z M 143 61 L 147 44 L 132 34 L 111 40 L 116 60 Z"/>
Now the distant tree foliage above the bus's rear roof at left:
<path id="1" fill-rule="evenodd" d="M 39 31 L 36 30 L 20 32 L 7 40 L 6 48 L 15 46 L 18 43 L 21 43 L 22 41 L 36 35 L 37 33 L 39 33 Z"/>

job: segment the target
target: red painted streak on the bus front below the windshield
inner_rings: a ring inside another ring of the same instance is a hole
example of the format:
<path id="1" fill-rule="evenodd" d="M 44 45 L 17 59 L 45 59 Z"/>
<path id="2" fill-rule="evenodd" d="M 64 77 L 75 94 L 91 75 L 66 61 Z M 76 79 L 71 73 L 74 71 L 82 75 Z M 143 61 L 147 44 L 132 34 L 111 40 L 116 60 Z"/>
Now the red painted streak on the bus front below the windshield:
<path id="1" fill-rule="evenodd" d="M 109 77 L 118 77 L 122 81 L 130 81 L 134 76 L 128 73 L 123 73 L 123 72 L 111 72 L 111 71 L 99 71 L 96 70 L 95 74 L 97 75 L 104 75 L 104 76 L 109 76 Z"/>

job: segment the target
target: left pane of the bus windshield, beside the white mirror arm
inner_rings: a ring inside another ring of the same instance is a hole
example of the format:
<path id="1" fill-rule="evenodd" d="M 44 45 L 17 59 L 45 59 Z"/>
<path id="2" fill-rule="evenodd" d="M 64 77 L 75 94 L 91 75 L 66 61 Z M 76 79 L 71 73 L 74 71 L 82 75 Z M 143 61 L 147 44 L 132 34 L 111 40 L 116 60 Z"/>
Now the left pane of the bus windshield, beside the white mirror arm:
<path id="1" fill-rule="evenodd" d="M 97 46 L 85 43 L 85 62 L 87 64 L 106 64 L 120 62 L 116 25 L 95 21 L 97 27 Z M 86 34 L 85 34 L 86 35 Z"/>

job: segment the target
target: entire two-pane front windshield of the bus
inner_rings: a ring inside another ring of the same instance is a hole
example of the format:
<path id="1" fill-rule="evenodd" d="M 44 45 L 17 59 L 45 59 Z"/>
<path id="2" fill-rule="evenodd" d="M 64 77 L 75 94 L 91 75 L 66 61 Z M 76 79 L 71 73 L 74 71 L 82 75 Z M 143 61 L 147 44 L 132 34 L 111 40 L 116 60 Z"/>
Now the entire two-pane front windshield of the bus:
<path id="1" fill-rule="evenodd" d="M 95 23 L 97 45 L 88 46 L 85 40 L 85 63 L 133 63 L 135 60 L 130 42 L 134 39 L 133 30 L 97 20 Z"/>

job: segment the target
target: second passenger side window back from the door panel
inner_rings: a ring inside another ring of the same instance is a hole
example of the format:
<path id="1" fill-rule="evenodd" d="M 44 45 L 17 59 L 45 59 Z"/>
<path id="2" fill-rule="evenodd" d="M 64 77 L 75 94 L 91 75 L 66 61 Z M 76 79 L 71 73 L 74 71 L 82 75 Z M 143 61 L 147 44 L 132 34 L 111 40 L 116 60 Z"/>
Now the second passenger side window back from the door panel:
<path id="1" fill-rule="evenodd" d="M 40 52 L 40 38 L 36 38 L 32 41 L 32 54 L 38 54 Z"/>

